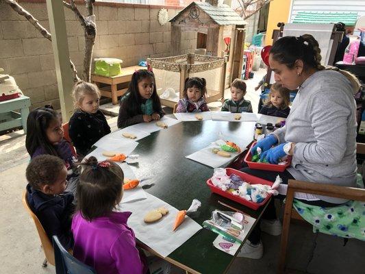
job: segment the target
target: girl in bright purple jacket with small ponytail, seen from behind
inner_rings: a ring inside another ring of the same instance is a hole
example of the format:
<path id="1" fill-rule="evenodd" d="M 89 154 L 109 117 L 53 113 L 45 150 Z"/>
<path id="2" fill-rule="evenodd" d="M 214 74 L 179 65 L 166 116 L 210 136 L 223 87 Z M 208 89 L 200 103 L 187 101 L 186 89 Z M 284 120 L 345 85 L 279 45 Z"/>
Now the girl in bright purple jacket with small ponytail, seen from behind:
<path id="1" fill-rule="evenodd" d="M 136 247 L 127 220 L 131 212 L 114 209 L 123 197 L 123 171 L 114 162 L 84 164 L 77 186 L 77 212 L 71 230 L 75 238 L 73 256 L 97 273 L 147 273 L 147 260 Z"/>

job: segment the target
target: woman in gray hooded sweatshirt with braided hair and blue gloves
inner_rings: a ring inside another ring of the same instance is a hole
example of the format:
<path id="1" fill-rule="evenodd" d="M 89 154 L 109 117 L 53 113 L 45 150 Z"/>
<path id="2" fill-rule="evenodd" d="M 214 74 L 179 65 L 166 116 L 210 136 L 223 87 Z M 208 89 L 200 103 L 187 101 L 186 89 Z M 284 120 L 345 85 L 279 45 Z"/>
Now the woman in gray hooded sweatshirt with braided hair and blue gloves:
<path id="1" fill-rule="evenodd" d="M 286 126 L 257 142 L 251 152 L 260 147 L 262 158 L 271 163 L 292 155 L 290 168 L 279 173 L 284 184 L 288 184 L 288 179 L 298 179 L 318 184 L 355 186 L 356 106 L 353 95 L 360 84 L 346 71 L 325 69 L 320 60 L 318 42 L 310 34 L 299 38 L 286 36 L 275 42 L 269 57 L 275 82 L 289 90 L 299 87 L 299 92 L 292 103 Z M 278 175 L 249 168 L 242 171 L 272 182 Z M 336 206 L 346 202 L 319 195 L 314 199 L 303 202 L 314 206 Z M 281 223 L 276 219 L 273 203 L 264 212 L 261 228 L 269 234 L 281 234 Z M 249 236 L 240 256 L 262 256 L 260 228 Z"/>

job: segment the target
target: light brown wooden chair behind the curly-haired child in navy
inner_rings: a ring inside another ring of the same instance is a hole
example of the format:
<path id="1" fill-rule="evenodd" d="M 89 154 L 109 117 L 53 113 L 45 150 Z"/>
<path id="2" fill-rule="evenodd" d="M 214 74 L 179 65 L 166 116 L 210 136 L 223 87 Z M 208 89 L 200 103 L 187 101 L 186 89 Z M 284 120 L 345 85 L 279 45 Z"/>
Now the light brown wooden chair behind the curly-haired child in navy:
<path id="1" fill-rule="evenodd" d="M 33 213 L 32 209 L 29 206 L 29 203 L 27 201 L 27 190 L 24 190 L 24 192 L 23 192 L 22 201 L 23 201 L 23 206 L 25 207 L 25 209 L 27 210 L 29 215 L 32 217 L 34 224 L 36 225 L 36 228 L 38 231 L 38 236 L 40 238 L 40 242 L 43 247 L 43 251 L 45 251 L 46 258 L 42 263 L 42 267 L 47 267 L 47 262 L 49 262 L 50 264 L 52 264 L 54 266 L 55 265 L 55 251 L 53 250 L 51 240 L 49 240 L 49 238 L 45 232 L 45 229 L 43 229 L 42 224 L 38 220 L 38 217 L 36 216 L 36 214 Z"/>

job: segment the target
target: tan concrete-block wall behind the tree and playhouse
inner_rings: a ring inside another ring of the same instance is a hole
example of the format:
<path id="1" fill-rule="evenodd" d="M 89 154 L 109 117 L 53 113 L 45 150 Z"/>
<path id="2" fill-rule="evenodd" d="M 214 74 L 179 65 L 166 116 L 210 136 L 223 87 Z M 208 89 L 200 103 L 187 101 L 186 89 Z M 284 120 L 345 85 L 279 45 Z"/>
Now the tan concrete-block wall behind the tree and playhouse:
<path id="1" fill-rule="evenodd" d="M 45 3 L 24 3 L 40 23 L 49 29 Z M 84 6 L 79 6 L 84 13 Z M 166 8 L 171 18 L 177 8 Z M 171 56 L 171 24 L 158 23 L 159 7 L 149 5 L 95 5 L 97 38 L 94 58 L 113 57 L 123 60 L 122 67 L 134 66 L 147 57 Z M 71 10 L 64 9 L 68 49 L 81 77 L 84 33 Z M 181 34 L 181 54 L 194 51 L 197 34 Z M 0 3 L 0 67 L 12 75 L 23 93 L 31 98 L 32 108 L 52 103 L 60 108 L 52 45 L 33 25 L 8 5 Z"/>

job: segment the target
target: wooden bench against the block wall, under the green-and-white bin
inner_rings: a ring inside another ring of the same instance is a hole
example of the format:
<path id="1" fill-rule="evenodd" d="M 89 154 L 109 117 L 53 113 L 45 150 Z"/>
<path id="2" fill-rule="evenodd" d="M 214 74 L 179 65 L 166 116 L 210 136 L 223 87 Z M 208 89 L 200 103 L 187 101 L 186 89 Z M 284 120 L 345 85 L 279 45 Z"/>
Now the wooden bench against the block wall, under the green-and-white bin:
<path id="1" fill-rule="evenodd" d="M 131 82 L 131 76 L 134 71 L 138 69 L 147 69 L 145 66 L 128 66 L 127 68 L 122 68 L 121 75 L 115 75 L 110 77 L 105 77 L 101 75 L 92 74 L 91 81 L 99 86 L 101 96 L 112 98 L 113 105 L 118 103 L 118 96 L 123 96 L 127 92 L 127 88 L 122 88 L 118 90 L 117 85 Z M 100 84 L 108 84 L 110 86 L 100 87 Z"/>

